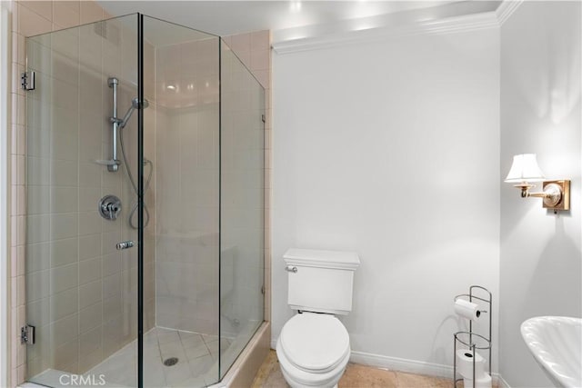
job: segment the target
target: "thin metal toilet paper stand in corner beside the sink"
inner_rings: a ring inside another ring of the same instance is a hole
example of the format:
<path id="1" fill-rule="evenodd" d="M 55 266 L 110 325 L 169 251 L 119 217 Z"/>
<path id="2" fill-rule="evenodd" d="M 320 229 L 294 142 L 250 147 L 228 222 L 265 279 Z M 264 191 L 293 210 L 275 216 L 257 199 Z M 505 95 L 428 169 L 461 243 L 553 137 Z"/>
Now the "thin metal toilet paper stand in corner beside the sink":
<path id="1" fill-rule="evenodd" d="M 481 293 L 487 293 L 486 297 L 479 297 L 476 296 L 474 291 L 478 289 L 481 290 Z M 473 388 L 476 388 L 477 381 L 475 379 L 475 363 L 476 358 L 475 354 L 478 350 L 488 350 L 489 352 L 489 376 L 491 376 L 491 322 L 492 322 L 492 311 L 493 311 L 493 297 L 487 288 L 481 287 L 480 285 L 471 285 L 469 287 L 469 293 L 462 293 L 460 295 L 455 296 L 455 301 L 458 298 L 468 297 L 469 302 L 473 302 L 475 299 L 476 301 L 480 301 L 483 303 L 487 303 L 487 310 L 480 310 L 481 313 L 488 313 L 489 314 L 489 335 L 486 337 L 485 335 L 477 334 L 473 332 L 473 321 L 469 320 L 469 331 L 468 332 L 457 332 L 454 334 L 455 338 L 455 345 L 453 350 L 453 382 L 455 384 L 455 388 L 457 388 L 457 383 L 463 381 L 463 377 L 457 379 L 457 342 L 460 343 L 459 346 L 465 345 L 467 346 L 467 350 L 471 351 L 473 354 Z M 468 388 L 468 387 L 466 387 Z"/>

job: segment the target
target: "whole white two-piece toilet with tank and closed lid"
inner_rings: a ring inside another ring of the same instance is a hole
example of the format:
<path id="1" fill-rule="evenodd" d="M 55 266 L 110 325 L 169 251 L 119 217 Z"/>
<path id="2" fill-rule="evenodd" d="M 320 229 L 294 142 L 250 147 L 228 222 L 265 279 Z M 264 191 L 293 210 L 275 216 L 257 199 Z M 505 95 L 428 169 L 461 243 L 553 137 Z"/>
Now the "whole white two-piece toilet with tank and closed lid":
<path id="1" fill-rule="evenodd" d="M 352 311 L 353 252 L 289 249 L 284 254 L 287 303 L 298 313 L 276 342 L 286 382 L 297 387 L 336 387 L 350 356 L 349 334 L 336 314 Z"/>

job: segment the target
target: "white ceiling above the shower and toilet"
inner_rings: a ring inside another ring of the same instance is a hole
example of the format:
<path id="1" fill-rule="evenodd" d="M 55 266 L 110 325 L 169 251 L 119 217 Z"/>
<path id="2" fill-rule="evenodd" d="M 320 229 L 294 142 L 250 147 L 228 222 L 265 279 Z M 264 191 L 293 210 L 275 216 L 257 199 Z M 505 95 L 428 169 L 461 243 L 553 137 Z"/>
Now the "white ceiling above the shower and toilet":
<path id="1" fill-rule="evenodd" d="M 478 0 L 97 1 L 112 15 L 140 12 L 221 36 L 334 25 L 380 15 L 406 15 L 407 20 L 467 15 L 494 11 L 500 3 Z"/>

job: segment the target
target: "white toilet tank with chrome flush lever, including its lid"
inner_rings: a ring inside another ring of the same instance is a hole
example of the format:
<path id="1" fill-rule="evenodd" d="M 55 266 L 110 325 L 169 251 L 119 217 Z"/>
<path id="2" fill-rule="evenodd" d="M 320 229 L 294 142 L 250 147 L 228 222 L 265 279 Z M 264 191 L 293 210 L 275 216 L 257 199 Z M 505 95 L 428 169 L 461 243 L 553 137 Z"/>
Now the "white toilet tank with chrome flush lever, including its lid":
<path id="1" fill-rule="evenodd" d="M 294 310 L 347 314 L 352 311 L 354 252 L 289 249 L 283 255 L 288 274 L 287 303 Z"/>

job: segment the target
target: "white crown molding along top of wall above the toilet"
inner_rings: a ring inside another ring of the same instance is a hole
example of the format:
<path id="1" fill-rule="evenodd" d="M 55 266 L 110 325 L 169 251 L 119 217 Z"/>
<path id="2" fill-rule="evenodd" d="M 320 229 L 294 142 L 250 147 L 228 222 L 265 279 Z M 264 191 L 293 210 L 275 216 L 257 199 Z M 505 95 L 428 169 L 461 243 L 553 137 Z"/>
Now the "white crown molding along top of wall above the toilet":
<path id="1" fill-rule="evenodd" d="M 505 2 L 504 2 L 505 3 Z M 311 27 L 294 28 L 276 32 L 273 49 L 279 55 L 309 51 L 322 48 L 337 47 L 341 45 L 354 45 L 366 42 L 376 42 L 386 39 L 393 39 L 414 35 L 444 35 L 468 31 L 477 31 L 487 28 L 497 28 L 499 26 L 496 12 L 485 12 L 473 15 L 463 15 L 447 17 L 443 19 L 424 20 L 414 23 L 394 26 L 381 26 L 361 30 L 344 30 L 329 32 L 328 34 L 317 34 Z M 327 28 L 328 31 L 329 28 Z M 323 31 L 325 33 L 325 31 Z M 308 33 L 308 34 L 306 34 Z M 301 36 L 299 38 L 286 38 L 286 36 Z M 311 36 L 309 36 L 311 35 Z"/>

